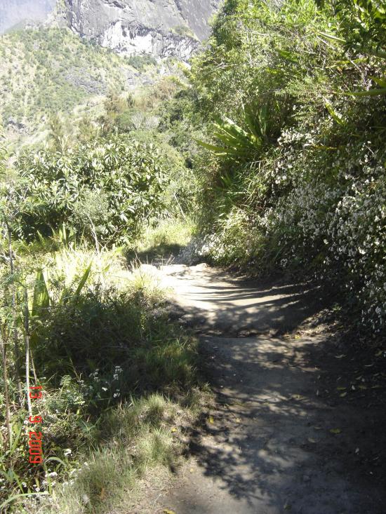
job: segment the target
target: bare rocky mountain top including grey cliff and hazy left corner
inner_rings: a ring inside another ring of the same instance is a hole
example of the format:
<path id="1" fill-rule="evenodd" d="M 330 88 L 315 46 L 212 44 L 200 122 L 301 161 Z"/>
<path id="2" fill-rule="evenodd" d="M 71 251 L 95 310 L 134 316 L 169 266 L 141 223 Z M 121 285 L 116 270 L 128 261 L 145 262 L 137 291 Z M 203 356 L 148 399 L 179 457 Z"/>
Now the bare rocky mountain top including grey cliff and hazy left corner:
<path id="1" fill-rule="evenodd" d="M 187 62 L 210 34 L 222 0 L 0 0 L 0 34 L 14 27 L 69 27 L 121 55 Z"/>

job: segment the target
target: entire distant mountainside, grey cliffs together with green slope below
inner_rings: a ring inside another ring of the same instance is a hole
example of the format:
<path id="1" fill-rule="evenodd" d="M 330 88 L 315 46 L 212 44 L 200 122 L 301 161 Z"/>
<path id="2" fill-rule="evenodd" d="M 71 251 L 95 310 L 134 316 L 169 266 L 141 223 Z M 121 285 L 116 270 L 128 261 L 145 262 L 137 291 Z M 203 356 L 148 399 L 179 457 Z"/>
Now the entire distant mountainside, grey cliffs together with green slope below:
<path id="1" fill-rule="evenodd" d="M 12 149 L 39 147 L 54 114 L 102 114 L 175 74 L 210 34 L 220 0 L 0 0 L 0 121 Z M 180 73 L 180 72 L 177 72 Z"/>

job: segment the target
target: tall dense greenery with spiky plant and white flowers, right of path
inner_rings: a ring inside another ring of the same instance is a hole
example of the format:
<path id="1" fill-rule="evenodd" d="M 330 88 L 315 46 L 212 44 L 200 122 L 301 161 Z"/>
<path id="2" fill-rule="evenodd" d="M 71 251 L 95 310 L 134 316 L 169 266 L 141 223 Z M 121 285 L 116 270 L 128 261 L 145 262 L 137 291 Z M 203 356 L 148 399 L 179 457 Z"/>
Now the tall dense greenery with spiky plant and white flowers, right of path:
<path id="1" fill-rule="evenodd" d="M 226 1 L 210 48 L 195 58 L 194 107 L 207 123 L 200 144 L 211 152 L 195 161 L 200 252 L 255 273 L 287 269 L 331 280 L 357 318 L 380 331 L 382 9 L 375 23 L 373 2 L 325 4 L 318 10 L 311 0 L 287 0 L 280 8 Z M 267 110 L 273 105 L 277 114 Z M 270 137 L 262 137 L 269 127 Z"/>

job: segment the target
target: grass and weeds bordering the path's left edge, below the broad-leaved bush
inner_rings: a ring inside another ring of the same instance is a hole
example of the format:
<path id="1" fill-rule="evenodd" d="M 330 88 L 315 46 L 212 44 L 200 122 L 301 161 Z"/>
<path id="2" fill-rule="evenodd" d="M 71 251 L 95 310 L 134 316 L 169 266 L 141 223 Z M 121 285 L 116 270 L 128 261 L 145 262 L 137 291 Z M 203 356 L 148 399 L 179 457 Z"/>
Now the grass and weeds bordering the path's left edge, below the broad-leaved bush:
<path id="1" fill-rule="evenodd" d="M 54 252 L 44 250 L 36 269 L 23 248 L 13 247 L 22 275 L 18 271 L 11 280 L 3 269 L 3 280 L 16 287 L 9 337 L 13 327 L 20 332 L 20 351 L 25 337 L 18 311 L 29 312 L 30 381 L 44 391 L 31 414 L 44 420 L 44 461 L 28 462 L 29 412 L 10 356 L 8 393 L 1 388 L 0 396 L 8 412 L 0 453 L 1 509 L 130 509 L 140 480 L 150 470 L 157 470 L 154 480 L 167 480 L 180 459 L 181 426 L 192 419 L 197 401 L 196 341 L 168 322 L 156 272 L 130 271 L 122 250 L 64 242 Z M 20 288 L 27 294 L 22 305 Z M 20 363 L 23 389 L 25 374 Z M 4 367 L 0 378 L 4 385 Z"/>

